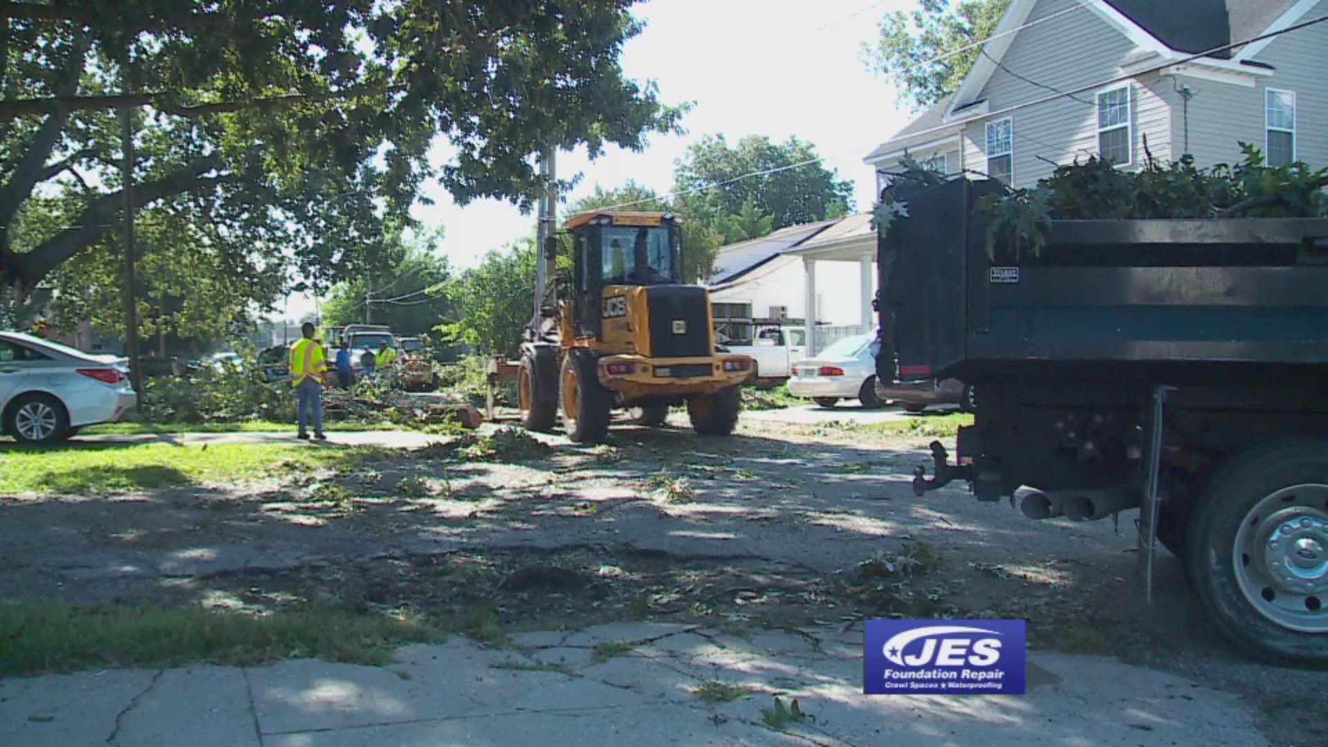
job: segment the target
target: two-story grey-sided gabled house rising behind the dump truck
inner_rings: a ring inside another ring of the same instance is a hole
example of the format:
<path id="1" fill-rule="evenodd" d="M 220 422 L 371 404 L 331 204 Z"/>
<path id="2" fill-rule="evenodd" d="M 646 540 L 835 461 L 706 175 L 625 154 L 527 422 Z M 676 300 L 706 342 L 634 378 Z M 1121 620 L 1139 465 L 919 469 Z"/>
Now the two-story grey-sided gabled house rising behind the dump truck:
<path id="1" fill-rule="evenodd" d="M 865 161 L 879 186 L 904 153 L 1016 187 L 1088 156 L 1236 163 L 1240 142 L 1321 167 L 1328 23 L 1296 27 L 1324 16 L 1328 0 L 1013 0 L 959 89 Z"/>

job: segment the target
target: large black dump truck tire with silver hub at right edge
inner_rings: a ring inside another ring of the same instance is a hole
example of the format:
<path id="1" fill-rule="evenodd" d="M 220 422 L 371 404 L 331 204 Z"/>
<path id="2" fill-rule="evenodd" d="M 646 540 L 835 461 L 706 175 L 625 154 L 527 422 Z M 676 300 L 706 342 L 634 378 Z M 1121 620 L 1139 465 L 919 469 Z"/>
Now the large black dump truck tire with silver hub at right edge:
<path id="1" fill-rule="evenodd" d="M 1189 524 L 1190 580 L 1218 630 L 1258 659 L 1328 665 L 1328 441 L 1238 456 Z"/>

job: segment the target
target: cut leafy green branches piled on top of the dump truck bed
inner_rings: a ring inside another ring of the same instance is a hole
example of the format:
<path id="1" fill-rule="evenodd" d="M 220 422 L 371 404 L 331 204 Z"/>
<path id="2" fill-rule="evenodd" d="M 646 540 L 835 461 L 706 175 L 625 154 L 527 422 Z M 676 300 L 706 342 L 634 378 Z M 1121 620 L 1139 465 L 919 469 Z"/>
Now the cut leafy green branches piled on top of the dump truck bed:
<path id="1" fill-rule="evenodd" d="M 1057 167 L 1036 187 L 988 195 L 988 253 L 995 258 L 1037 255 L 1045 226 L 1058 219 L 1284 218 L 1328 215 L 1328 169 L 1303 162 L 1270 167 L 1259 149 L 1240 144 L 1244 160 L 1197 169 L 1194 160 L 1162 166 L 1151 158 L 1122 171 L 1096 156 Z"/>

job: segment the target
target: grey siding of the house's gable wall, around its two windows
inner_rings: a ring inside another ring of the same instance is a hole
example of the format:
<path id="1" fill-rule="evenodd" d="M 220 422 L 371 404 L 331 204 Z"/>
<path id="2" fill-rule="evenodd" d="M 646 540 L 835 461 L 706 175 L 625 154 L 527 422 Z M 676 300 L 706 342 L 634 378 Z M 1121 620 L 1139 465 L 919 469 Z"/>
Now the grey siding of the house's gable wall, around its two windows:
<path id="1" fill-rule="evenodd" d="M 1076 4 L 1073 0 L 1041 0 L 1027 23 L 1060 13 Z M 1054 96 L 1056 90 L 1073 90 L 1118 77 L 1133 51 L 1134 47 L 1123 35 L 1088 9 L 1019 32 L 1001 58 L 1005 69 L 997 68 L 979 94 L 979 98 L 988 100 L 995 114 L 964 128 L 960 141 L 964 165 L 975 171 L 985 171 L 985 122 L 1003 118 L 1003 109 Z M 1029 84 L 1020 77 L 1041 85 Z M 1015 186 L 1032 186 L 1049 175 L 1056 165 L 1097 154 L 1096 90 L 1089 89 L 1074 98 L 1056 98 L 1009 114 L 1015 120 Z M 1151 76 L 1133 81 L 1131 166 L 1138 166 L 1145 158 L 1145 137 L 1154 158 L 1171 158 L 1170 102 L 1177 98 L 1170 78 Z"/>

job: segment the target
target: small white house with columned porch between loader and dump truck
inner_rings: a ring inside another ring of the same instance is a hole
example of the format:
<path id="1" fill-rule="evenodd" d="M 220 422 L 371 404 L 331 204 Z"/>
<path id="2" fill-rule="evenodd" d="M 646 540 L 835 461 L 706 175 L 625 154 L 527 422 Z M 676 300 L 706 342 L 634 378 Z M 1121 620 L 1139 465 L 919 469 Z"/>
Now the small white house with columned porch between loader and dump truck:
<path id="1" fill-rule="evenodd" d="M 754 320 L 805 327 L 810 352 L 874 327 L 876 241 L 870 214 L 780 229 L 720 249 L 708 283 L 716 328 L 748 339 Z"/>

